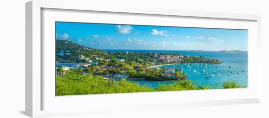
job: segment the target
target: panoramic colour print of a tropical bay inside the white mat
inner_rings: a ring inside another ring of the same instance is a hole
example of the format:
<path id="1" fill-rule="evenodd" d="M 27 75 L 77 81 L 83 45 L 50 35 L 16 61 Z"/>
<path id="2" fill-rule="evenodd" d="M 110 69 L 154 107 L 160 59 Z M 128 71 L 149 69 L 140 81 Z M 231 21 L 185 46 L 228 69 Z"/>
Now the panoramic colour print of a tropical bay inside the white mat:
<path id="1" fill-rule="evenodd" d="M 247 30 L 55 26 L 56 95 L 247 88 Z"/>

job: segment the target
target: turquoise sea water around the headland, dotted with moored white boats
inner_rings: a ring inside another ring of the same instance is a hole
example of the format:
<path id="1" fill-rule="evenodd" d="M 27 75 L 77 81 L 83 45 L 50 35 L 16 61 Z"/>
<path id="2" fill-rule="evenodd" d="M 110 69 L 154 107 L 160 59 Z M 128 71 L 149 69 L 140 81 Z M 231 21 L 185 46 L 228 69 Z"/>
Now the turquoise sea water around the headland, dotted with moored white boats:
<path id="1" fill-rule="evenodd" d="M 223 82 L 236 82 L 239 85 L 247 86 L 247 52 L 220 52 L 220 51 L 177 51 L 177 50 L 106 50 L 109 52 L 115 51 L 132 51 L 132 52 L 157 52 L 157 53 L 180 53 L 184 55 L 197 55 L 204 56 L 208 58 L 220 59 L 223 61 L 222 64 L 189 64 L 191 67 L 188 68 L 187 65 L 178 64 L 178 65 L 168 65 L 160 66 L 160 68 L 180 68 L 183 67 L 183 71 L 187 73 L 187 80 L 192 80 L 197 82 L 198 86 L 205 86 L 208 84 L 210 87 L 223 88 Z M 229 68 L 231 66 L 232 68 Z M 196 72 L 194 72 L 194 70 Z M 205 70 L 206 72 L 202 72 Z M 228 74 L 229 71 L 232 71 L 231 74 Z M 246 70 L 246 71 L 243 71 Z M 240 71 L 240 73 L 238 73 Z M 220 75 L 217 74 L 220 73 Z M 213 77 L 204 78 L 208 74 L 213 74 Z M 142 86 L 149 86 L 156 88 L 159 84 L 172 84 L 175 81 L 146 81 L 146 80 L 132 80 Z"/>

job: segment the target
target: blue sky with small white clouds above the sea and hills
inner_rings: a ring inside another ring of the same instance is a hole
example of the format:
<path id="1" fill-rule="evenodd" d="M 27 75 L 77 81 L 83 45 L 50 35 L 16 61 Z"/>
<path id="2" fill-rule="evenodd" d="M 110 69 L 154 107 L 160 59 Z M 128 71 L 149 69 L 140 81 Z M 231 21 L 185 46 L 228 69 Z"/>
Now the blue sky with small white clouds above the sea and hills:
<path id="1" fill-rule="evenodd" d="M 247 30 L 56 23 L 56 39 L 98 49 L 242 50 Z"/>

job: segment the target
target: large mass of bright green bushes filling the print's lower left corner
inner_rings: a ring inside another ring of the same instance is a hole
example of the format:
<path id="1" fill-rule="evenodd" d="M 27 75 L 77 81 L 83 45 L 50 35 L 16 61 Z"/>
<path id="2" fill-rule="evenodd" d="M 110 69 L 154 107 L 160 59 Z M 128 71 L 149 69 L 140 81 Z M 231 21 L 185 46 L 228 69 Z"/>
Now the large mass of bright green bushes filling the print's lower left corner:
<path id="1" fill-rule="evenodd" d="M 153 92 L 154 89 L 140 86 L 126 80 L 110 81 L 92 74 L 81 75 L 70 71 L 64 76 L 56 76 L 56 95 L 112 94 Z"/>

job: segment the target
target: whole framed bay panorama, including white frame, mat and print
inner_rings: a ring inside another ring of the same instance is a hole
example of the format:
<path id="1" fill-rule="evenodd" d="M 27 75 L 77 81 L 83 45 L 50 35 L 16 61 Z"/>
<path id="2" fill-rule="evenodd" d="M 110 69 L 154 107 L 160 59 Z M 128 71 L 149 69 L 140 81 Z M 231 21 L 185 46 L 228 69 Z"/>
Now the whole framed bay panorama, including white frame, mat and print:
<path id="1" fill-rule="evenodd" d="M 56 2 L 26 3 L 27 116 L 260 102 L 258 15 Z"/>

